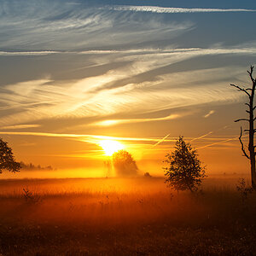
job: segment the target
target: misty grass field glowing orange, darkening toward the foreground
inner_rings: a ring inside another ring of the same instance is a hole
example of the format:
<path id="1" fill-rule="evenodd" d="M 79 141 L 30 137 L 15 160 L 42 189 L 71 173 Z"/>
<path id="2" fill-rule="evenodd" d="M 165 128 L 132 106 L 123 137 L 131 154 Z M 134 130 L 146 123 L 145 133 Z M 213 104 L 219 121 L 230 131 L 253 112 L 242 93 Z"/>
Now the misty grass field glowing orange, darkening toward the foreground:
<path id="1" fill-rule="evenodd" d="M 0 180 L 0 255 L 256 255 L 256 193 L 237 180 Z"/>

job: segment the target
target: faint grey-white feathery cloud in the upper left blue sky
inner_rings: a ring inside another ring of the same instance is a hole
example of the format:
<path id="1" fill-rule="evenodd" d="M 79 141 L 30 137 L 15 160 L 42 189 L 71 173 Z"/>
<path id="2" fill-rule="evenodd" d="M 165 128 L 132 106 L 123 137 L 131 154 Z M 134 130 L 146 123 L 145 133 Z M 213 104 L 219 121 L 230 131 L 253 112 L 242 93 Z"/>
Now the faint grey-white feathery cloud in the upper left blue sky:
<path id="1" fill-rule="evenodd" d="M 67 1 L 6 1 L 0 4 L 0 48 L 58 51 L 142 44 L 174 38 L 191 29 L 189 21 L 120 17 L 116 11 Z M 2 54 L 5 54 L 5 50 Z M 17 53 L 18 54 L 18 53 Z M 20 53 L 19 53 L 20 54 Z M 44 52 L 46 54 L 46 52 Z M 27 53 L 29 55 L 29 53 Z"/>

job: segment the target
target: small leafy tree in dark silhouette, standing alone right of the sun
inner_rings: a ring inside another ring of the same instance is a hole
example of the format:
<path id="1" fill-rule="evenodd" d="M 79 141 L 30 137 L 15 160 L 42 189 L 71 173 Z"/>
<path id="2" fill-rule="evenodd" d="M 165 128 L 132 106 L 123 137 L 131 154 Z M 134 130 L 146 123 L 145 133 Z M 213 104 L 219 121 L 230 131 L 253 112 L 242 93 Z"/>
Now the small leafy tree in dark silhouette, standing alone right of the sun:
<path id="1" fill-rule="evenodd" d="M 185 143 L 183 137 L 179 137 L 175 150 L 171 154 L 166 154 L 166 158 L 164 162 L 169 165 L 164 168 L 167 186 L 177 191 L 197 191 L 201 179 L 206 177 L 205 166 L 202 166 L 197 151 L 190 143 Z"/>

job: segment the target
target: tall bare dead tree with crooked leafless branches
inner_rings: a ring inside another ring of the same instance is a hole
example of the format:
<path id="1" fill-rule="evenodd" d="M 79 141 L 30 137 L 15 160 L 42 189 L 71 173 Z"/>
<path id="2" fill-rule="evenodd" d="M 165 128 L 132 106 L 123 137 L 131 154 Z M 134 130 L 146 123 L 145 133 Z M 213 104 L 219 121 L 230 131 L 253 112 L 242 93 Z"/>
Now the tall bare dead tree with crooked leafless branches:
<path id="1" fill-rule="evenodd" d="M 255 148 L 256 148 L 256 146 L 254 146 L 254 142 L 253 142 L 254 133 L 256 131 L 256 129 L 254 129 L 254 121 L 255 121 L 256 117 L 254 117 L 254 113 L 253 113 L 255 108 L 256 108 L 256 106 L 254 106 L 254 93 L 255 93 L 256 79 L 253 79 L 253 66 L 251 66 L 250 70 L 247 71 L 247 73 L 249 74 L 249 77 L 252 81 L 252 88 L 241 88 L 240 86 L 237 86 L 236 84 L 230 84 L 230 85 L 235 87 L 239 91 L 242 91 L 248 97 L 248 102 L 245 103 L 245 105 L 248 108 L 246 110 L 246 112 L 248 113 L 248 118 L 246 118 L 246 119 L 237 119 L 235 122 L 246 121 L 247 124 L 248 124 L 248 129 L 244 130 L 244 132 L 249 133 L 249 143 L 248 143 L 248 147 L 247 147 L 248 148 L 248 154 L 247 154 L 246 148 L 244 147 L 244 145 L 241 141 L 242 128 L 241 128 L 241 131 L 240 131 L 239 141 L 241 143 L 241 151 L 242 151 L 243 155 L 248 160 L 250 160 L 252 187 L 253 187 L 253 189 L 256 189 L 256 172 L 255 172 Z"/>

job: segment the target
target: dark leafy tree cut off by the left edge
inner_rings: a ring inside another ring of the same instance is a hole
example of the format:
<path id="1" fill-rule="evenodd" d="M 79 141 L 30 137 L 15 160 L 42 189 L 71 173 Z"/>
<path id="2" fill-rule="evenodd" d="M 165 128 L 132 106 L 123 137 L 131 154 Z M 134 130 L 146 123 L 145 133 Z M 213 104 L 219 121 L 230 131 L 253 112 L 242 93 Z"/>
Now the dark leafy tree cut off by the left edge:
<path id="1" fill-rule="evenodd" d="M 20 163 L 15 161 L 12 148 L 9 148 L 7 143 L 0 138 L 0 173 L 2 173 L 3 170 L 19 172 Z"/>

